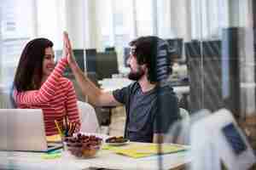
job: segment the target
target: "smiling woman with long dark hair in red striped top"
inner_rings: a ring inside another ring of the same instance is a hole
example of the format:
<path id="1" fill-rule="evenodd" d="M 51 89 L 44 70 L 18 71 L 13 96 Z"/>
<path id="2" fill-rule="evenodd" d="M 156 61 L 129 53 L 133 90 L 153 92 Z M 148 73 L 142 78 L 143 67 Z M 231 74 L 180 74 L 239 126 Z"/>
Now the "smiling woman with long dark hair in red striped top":
<path id="1" fill-rule="evenodd" d="M 67 48 L 64 47 L 64 51 L 68 54 Z M 55 120 L 62 121 L 64 116 L 70 122 L 78 122 L 80 127 L 73 83 L 62 77 L 67 56 L 56 66 L 54 58 L 53 42 L 46 38 L 28 42 L 21 54 L 14 81 L 15 104 L 21 109 L 42 109 L 48 136 L 58 133 Z"/>

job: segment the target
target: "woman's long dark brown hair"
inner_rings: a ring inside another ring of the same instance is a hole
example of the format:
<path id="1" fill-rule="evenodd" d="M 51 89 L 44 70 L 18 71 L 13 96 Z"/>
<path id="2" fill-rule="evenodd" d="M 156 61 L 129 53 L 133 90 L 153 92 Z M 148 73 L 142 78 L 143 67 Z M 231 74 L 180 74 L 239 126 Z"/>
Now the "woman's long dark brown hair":
<path id="1" fill-rule="evenodd" d="M 36 38 L 26 44 L 15 73 L 14 86 L 18 92 L 40 88 L 45 48 L 52 47 L 53 42 L 46 38 Z"/>

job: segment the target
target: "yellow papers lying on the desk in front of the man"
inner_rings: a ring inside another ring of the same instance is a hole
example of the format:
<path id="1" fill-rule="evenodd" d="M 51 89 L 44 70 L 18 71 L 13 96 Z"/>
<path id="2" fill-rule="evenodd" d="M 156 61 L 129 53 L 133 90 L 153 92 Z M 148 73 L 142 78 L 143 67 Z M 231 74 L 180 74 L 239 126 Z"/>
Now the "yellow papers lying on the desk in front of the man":
<path id="1" fill-rule="evenodd" d="M 182 145 L 177 144 L 162 144 L 161 145 L 162 154 L 170 154 L 178 151 L 187 150 Z M 104 146 L 103 149 L 113 150 L 117 154 L 122 154 L 124 156 L 130 156 L 133 158 L 141 158 L 146 156 L 154 156 L 158 153 L 157 144 L 132 144 L 127 147 L 114 147 L 114 146 Z"/>

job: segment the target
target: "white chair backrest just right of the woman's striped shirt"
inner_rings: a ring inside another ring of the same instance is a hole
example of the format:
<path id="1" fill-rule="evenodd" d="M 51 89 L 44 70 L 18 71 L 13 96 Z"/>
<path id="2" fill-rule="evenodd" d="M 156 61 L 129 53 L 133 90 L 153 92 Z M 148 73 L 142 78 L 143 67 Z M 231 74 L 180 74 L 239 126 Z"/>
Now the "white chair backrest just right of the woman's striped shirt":
<path id="1" fill-rule="evenodd" d="M 81 131 L 84 133 L 99 133 L 100 125 L 95 109 L 88 103 L 78 101 L 81 119 Z"/>

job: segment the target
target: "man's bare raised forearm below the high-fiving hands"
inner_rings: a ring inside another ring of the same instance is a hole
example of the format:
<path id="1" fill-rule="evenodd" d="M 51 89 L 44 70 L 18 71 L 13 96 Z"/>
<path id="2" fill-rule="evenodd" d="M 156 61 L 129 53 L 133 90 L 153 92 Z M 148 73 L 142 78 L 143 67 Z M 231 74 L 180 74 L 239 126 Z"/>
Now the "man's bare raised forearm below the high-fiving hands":
<path id="1" fill-rule="evenodd" d="M 70 67 L 73 71 L 76 81 L 79 83 L 79 87 L 82 89 L 82 93 L 84 95 L 88 95 L 93 105 L 101 105 L 98 99 L 101 94 L 101 89 L 97 88 L 96 85 L 84 75 L 84 72 L 81 71 L 78 65 L 72 65 Z"/>

